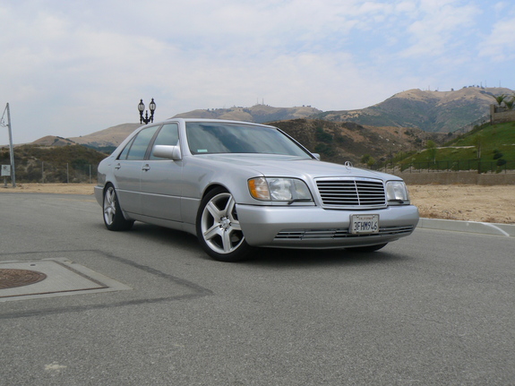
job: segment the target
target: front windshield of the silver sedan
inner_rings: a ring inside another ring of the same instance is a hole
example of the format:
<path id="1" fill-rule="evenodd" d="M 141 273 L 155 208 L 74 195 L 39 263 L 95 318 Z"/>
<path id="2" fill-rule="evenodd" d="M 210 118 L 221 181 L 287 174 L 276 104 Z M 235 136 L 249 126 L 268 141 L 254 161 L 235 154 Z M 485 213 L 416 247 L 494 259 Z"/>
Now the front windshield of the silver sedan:
<path id="1" fill-rule="evenodd" d="M 288 136 L 269 127 L 187 122 L 186 135 L 192 154 L 261 153 L 311 158 Z"/>

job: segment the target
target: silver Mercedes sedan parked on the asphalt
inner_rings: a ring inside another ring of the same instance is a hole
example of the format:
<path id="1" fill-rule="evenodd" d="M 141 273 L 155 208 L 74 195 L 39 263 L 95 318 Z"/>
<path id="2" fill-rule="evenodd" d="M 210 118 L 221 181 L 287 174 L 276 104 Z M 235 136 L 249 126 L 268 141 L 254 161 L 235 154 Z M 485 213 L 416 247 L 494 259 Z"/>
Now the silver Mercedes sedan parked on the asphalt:
<path id="1" fill-rule="evenodd" d="M 398 176 L 322 162 L 277 127 L 170 119 L 140 127 L 99 164 L 109 230 L 182 230 L 213 259 L 256 247 L 373 252 L 410 235 L 418 210 Z"/>

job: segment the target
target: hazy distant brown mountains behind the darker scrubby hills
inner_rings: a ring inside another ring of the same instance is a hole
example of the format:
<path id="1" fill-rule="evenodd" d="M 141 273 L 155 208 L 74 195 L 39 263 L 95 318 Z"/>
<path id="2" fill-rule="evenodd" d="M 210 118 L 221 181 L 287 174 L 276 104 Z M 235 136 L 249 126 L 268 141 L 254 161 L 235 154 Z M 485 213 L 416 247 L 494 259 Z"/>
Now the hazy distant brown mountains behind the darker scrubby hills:
<path id="1" fill-rule="evenodd" d="M 276 124 L 288 120 L 312 119 L 334 123 L 352 122 L 376 132 L 381 131 L 382 127 L 390 127 L 397 130 L 416 129 L 412 133 L 452 133 L 486 116 L 490 105 L 496 103 L 493 97 L 501 94 L 512 95 L 513 91 L 477 86 L 451 91 L 414 89 L 399 92 L 381 103 L 357 110 L 323 112 L 311 106 L 270 107 L 257 104 L 253 107 L 196 109 L 174 117 L 233 119 Z M 140 125 L 118 124 L 99 132 L 68 139 L 48 135 L 34 143 L 46 146 L 79 143 L 97 149 L 112 148 Z M 421 133 L 419 137 L 424 137 L 424 134 Z"/>

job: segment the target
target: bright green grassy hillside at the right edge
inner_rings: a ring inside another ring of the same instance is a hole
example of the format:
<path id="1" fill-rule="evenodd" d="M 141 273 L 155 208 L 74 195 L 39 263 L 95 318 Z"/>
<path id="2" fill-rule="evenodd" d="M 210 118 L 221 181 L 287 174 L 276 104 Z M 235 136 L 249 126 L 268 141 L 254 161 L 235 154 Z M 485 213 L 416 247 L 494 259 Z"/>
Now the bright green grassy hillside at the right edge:
<path id="1" fill-rule="evenodd" d="M 515 169 L 515 122 L 485 124 L 442 147 L 427 142 L 425 148 L 416 153 L 398 154 L 392 162 L 402 168 L 479 169 L 481 172 Z"/>

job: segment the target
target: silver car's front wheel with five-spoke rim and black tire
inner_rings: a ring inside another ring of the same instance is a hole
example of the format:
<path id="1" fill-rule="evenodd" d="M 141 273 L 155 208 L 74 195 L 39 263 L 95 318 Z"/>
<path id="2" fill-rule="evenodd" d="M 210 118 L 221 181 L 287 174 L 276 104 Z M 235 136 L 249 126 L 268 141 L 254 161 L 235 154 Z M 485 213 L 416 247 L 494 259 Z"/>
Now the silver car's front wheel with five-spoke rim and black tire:
<path id="1" fill-rule="evenodd" d="M 253 250 L 241 230 L 235 199 L 223 188 L 213 189 L 202 199 L 196 230 L 204 251 L 219 262 L 240 262 Z"/>

